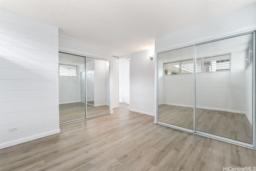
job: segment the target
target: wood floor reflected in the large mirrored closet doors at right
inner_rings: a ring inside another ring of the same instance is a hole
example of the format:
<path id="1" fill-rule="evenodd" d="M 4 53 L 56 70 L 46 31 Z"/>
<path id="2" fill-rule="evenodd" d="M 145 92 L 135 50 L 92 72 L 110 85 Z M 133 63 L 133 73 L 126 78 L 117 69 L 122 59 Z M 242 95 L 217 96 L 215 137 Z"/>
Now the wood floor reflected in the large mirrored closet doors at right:
<path id="1" fill-rule="evenodd" d="M 159 105 L 158 121 L 193 129 L 193 108 Z M 252 126 L 245 114 L 196 108 L 196 130 L 252 144 Z"/>

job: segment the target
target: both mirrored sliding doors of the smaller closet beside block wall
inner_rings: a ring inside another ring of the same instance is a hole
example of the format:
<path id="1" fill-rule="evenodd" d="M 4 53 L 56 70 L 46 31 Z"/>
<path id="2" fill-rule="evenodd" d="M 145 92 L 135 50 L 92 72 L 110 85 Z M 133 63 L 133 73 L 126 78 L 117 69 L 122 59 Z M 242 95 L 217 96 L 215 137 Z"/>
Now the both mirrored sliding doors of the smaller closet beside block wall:
<path id="1" fill-rule="evenodd" d="M 110 113 L 109 61 L 59 53 L 60 124 Z"/>

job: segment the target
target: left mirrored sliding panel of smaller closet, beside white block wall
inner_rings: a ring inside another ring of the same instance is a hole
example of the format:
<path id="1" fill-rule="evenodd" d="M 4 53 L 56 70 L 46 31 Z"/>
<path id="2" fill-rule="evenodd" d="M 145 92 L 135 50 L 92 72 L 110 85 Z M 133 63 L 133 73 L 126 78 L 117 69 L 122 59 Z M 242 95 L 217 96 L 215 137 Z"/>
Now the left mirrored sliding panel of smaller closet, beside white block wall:
<path id="1" fill-rule="evenodd" d="M 59 53 L 60 124 L 85 118 L 85 58 Z"/>

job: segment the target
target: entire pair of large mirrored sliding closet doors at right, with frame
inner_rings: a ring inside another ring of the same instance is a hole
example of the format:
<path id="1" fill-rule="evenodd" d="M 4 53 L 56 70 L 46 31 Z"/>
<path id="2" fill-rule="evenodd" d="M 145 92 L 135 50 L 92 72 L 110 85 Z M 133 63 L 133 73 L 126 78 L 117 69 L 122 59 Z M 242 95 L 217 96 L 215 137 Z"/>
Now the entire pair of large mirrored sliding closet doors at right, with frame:
<path id="1" fill-rule="evenodd" d="M 157 122 L 255 148 L 253 52 L 255 32 L 158 52 Z"/>

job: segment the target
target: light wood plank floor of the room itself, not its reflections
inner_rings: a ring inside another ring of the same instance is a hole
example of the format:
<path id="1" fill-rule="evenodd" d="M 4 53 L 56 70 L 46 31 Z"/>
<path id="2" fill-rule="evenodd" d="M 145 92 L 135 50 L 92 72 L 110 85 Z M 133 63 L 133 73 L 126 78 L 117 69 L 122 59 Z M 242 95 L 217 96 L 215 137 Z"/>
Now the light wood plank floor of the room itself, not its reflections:
<path id="1" fill-rule="evenodd" d="M 256 150 L 154 124 L 127 106 L 0 150 L 1 171 L 223 171 L 256 166 Z"/>

